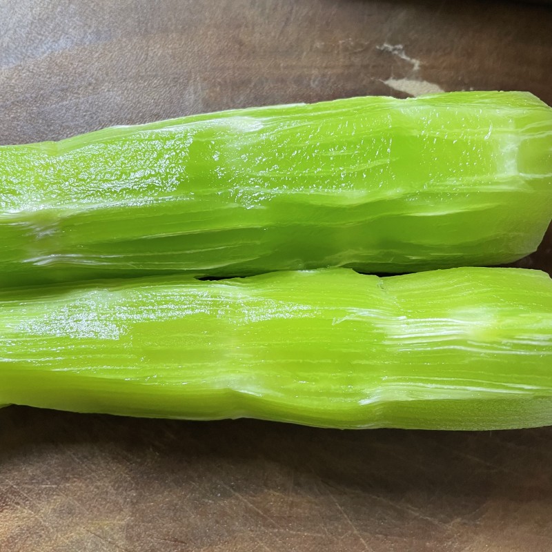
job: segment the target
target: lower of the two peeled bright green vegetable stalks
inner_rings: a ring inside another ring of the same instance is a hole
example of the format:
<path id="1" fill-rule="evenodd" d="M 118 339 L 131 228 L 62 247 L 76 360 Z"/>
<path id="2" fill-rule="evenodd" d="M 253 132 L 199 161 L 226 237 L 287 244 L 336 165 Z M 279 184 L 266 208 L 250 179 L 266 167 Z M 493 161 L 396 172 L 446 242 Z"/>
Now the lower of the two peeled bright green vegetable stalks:
<path id="1" fill-rule="evenodd" d="M 552 424 L 552 280 L 343 268 L 0 293 L 0 403 L 336 428 Z"/>

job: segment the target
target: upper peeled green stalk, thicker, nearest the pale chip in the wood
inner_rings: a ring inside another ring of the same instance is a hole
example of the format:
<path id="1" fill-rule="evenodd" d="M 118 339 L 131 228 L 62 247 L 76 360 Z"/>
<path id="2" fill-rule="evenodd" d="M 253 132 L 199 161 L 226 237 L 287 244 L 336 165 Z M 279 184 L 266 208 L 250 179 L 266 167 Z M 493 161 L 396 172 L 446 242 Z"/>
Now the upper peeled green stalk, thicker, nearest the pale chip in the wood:
<path id="1" fill-rule="evenodd" d="M 501 264 L 552 217 L 525 92 L 360 97 L 0 147 L 0 284 Z"/>

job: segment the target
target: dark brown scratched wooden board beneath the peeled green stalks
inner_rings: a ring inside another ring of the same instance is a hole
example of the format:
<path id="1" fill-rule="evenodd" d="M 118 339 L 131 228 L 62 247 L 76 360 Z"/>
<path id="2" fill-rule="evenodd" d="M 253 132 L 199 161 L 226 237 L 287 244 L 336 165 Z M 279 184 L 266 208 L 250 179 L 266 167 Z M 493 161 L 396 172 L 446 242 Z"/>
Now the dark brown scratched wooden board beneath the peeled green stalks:
<path id="1" fill-rule="evenodd" d="M 5 0 L 0 144 L 439 88 L 552 103 L 551 33 L 550 6 L 506 1 Z M 552 430 L 0 411 L 2 552 L 321 550 L 552 550 Z"/>

